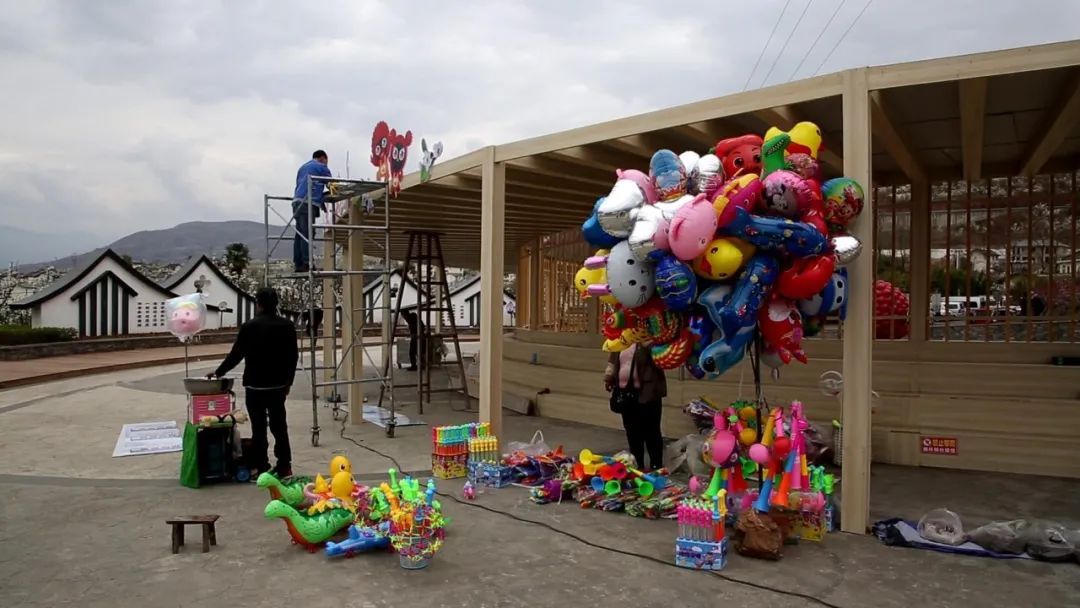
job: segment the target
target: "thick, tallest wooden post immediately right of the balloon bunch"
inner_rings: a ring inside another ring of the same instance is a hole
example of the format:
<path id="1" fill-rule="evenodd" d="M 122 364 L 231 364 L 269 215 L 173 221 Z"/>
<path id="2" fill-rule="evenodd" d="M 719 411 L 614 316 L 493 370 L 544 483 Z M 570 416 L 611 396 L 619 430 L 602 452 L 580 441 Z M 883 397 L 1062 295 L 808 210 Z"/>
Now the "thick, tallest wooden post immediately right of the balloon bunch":
<path id="1" fill-rule="evenodd" d="M 874 240 L 870 111 L 866 69 L 843 73 L 843 173 L 863 185 L 866 202 L 851 231 Z M 870 494 L 870 392 L 874 346 L 874 252 L 848 266 L 848 319 L 843 325 L 843 488 L 840 529 L 866 533 Z"/>

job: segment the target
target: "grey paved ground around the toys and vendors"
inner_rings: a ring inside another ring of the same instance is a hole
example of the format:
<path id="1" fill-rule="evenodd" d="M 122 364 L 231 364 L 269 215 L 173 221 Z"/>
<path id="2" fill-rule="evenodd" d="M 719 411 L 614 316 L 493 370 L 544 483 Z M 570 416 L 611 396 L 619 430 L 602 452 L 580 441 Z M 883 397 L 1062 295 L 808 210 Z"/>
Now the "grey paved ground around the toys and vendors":
<path id="1" fill-rule="evenodd" d="M 674 524 L 576 504 L 538 506 L 517 488 L 477 500 L 509 515 L 444 499 L 450 536 L 423 571 L 404 571 L 386 554 L 333 562 L 309 555 L 289 544 L 280 522 L 261 516 L 268 497 L 254 485 L 190 490 L 175 482 L 179 455 L 110 458 L 122 423 L 183 418 L 181 373 L 171 365 L 0 392 L 3 606 L 820 605 L 591 546 L 567 535 L 670 562 Z M 437 405 L 423 418 L 446 423 L 473 416 L 449 405 L 462 404 Z M 387 469 L 381 457 L 329 432 L 325 409 L 322 445 L 311 447 L 310 407 L 302 398 L 289 402 L 298 472 L 321 471 L 336 452 L 347 454 L 362 478 Z M 505 422 L 504 441 L 542 428 L 550 443 L 570 450 L 610 451 L 622 442 L 616 431 L 581 424 L 509 413 Z M 420 470 L 430 464 L 428 429 L 402 428 L 393 440 L 370 424 L 348 427 L 347 434 Z M 1080 526 L 1076 481 L 876 467 L 873 483 L 875 517 L 917 517 L 948 505 L 976 524 L 1043 516 Z M 440 488 L 457 495 L 460 483 Z M 221 515 L 219 546 L 172 555 L 164 519 L 203 512 Z M 1080 605 L 1076 565 L 891 549 L 851 535 L 788 548 L 779 563 L 733 556 L 724 573 L 852 608 Z"/>

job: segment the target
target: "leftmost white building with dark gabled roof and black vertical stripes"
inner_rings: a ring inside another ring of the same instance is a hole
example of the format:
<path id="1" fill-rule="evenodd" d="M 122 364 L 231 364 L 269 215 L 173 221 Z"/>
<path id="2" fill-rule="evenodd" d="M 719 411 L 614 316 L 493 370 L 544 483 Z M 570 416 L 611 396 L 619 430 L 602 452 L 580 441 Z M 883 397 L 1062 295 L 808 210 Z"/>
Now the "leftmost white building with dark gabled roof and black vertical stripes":
<path id="1" fill-rule="evenodd" d="M 33 327 L 72 327 L 80 337 L 156 334 L 166 330 L 165 300 L 177 295 L 106 249 L 12 308 L 29 309 Z M 218 308 L 207 308 L 215 317 Z"/>

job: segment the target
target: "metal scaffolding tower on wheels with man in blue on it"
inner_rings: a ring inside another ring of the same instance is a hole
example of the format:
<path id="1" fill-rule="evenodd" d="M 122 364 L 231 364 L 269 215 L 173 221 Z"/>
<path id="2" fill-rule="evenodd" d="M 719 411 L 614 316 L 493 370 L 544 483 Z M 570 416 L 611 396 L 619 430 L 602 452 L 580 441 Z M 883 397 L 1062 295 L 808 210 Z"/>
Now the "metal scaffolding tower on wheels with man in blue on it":
<path id="1" fill-rule="evenodd" d="M 327 207 L 327 221 L 316 226 L 313 194 L 314 192 L 323 191 L 324 189 L 326 190 L 326 193 L 323 197 L 323 204 Z M 381 192 L 381 205 L 369 204 L 369 197 L 376 192 Z M 345 215 L 339 216 L 337 203 L 342 201 L 345 201 L 348 206 Z M 381 276 L 384 286 L 390 284 L 390 275 L 394 269 L 390 259 L 390 197 L 387 183 L 309 176 L 307 195 L 305 199 L 266 194 L 264 195 L 262 202 L 262 216 L 266 228 L 266 266 L 264 282 L 267 286 L 273 285 L 275 281 L 297 282 L 297 285 L 302 294 L 302 300 L 307 305 L 306 330 L 301 334 L 301 336 L 307 335 L 308 338 L 307 352 L 309 355 L 309 364 L 305 367 L 303 356 L 301 355 L 298 371 L 303 373 L 310 379 L 311 384 L 311 445 L 319 445 L 319 434 L 321 430 L 319 425 L 320 392 L 323 390 L 328 391 L 328 394 L 325 396 L 324 406 L 332 408 L 333 417 L 337 420 L 343 410 L 342 405 L 346 402 L 346 400 L 342 398 L 339 389 L 370 382 L 378 382 L 380 386 L 380 407 L 382 403 L 381 394 L 383 392 L 390 393 L 389 417 L 383 418 L 381 421 L 386 425 L 387 435 L 392 437 L 394 435 L 394 427 L 396 427 L 397 420 L 396 407 L 394 403 L 393 368 L 389 365 L 391 350 L 393 349 L 393 330 L 390 326 L 390 291 L 384 287 L 382 289 L 383 294 L 381 302 L 378 306 L 374 306 L 374 302 L 372 302 L 372 307 L 365 307 L 362 293 L 359 298 L 360 301 L 356 301 L 353 297 L 347 297 L 347 292 L 352 291 L 352 285 L 350 284 L 352 278 L 360 278 L 363 280 L 366 276 Z M 291 205 L 287 216 L 279 213 L 273 206 L 275 203 L 282 202 L 287 202 Z M 374 213 L 374 206 L 382 207 L 381 218 Z M 307 233 L 303 233 L 305 231 L 297 231 L 296 229 L 296 219 L 298 217 L 302 217 L 299 215 L 302 213 L 307 214 Z M 376 215 L 376 217 L 374 217 L 373 220 L 349 221 L 348 216 L 350 214 L 373 214 Z M 284 222 L 284 227 L 282 228 L 280 234 L 274 235 L 271 233 L 271 215 L 276 216 L 282 222 Z M 345 221 L 339 222 L 339 220 L 342 219 Z M 381 219 L 381 221 L 378 221 L 379 219 Z M 322 235 L 318 235 L 319 230 L 322 230 Z M 381 243 L 379 243 L 379 240 L 376 240 L 376 238 L 373 238 L 373 235 L 381 235 Z M 271 258 L 278 247 L 278 244 L 282 241 L 294 241 L 297 238 L 308 244 L 307 272 L 274 273 L 272 271 Z M 351 257 L 348 255 L 350 253 L 348 251 L 350 243 L 359 245 L 362 248 L 363 240 L 375 244 L 381 249 L 382 264 L 379 268 L 364 268 L 364 256 L 360 256 L 360 268 L 351 268 L 351 264 L 339 264 L 339 260 Z M 330 248 L 328 252 L 325 249 L 322 252 L 322 260 L 316 257 L 320 255 L 316 253 L 316 244 L 322 244 L 324 248 Z M 320 261 L 323 264 L 320 264 Z M 316 281 L 320 283 L 316 283 Z M 323 287 L 322 298 L 319 298 L 318 293 L 320 284 Z M 338 356 L 337 346 L 338 310 L 341 311 L 340 357 Z M 367 313 L 368 311 L 375 310 L 382 311 L 382 330 L 379 341 L 368 342 L 367 346 L 379 347 L 382 354 L 381 365 L 377 365 L 364 348 L 364 327 L 366 325 Z M 316 311 L 319 312 L 316 313 Z M 302 319 L 305 312 L 301 311 L 300 315 Z M 320 316 L 328 317 L 328 322 L 323 329 L 324 342 L 327 342 L 328 348 L 323 349 L 322 364 L 319 364 L 315 359 Z M 301 337 L 301 348 L 303 346 L 302 340 L 303 338 Z M 342 374 L 341 365 L 345 362 L 352 361 L 352 357 L 355 356 L 360 356 L 362 359 L 366 357 L 367 362 L 370 364 L 370 368 L 381 370 L 381 373 L 376 371 L 374 376 L 364 374 L 362 375 L 363 377 L 355 378 L 352 377 L 355 369 L 355 366 L 353 366 L 352 369 L 349 369 L 349 374 Z M 320 371 L 324 373 L 324 377 L 322 379 L 319 377 Z M 356 391 L 355 394 L 360 394 L 360 391 Z M 362 403 L 351 405 L 353 406 L 352 411 L 354 415 L 360 415 L 360 413 L 363 411 Z"/>

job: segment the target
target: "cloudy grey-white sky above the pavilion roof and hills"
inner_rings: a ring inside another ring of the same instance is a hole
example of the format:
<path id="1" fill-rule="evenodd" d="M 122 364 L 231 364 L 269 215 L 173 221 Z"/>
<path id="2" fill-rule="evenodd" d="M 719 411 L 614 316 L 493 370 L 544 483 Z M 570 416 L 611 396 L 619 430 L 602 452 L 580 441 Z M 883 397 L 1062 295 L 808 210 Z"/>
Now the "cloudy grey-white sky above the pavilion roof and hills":
<path id="1" fill-rule="evenodd" d="M 1080 2 L 8 2 L 0 224 L 261 219 L 314 148 L 372 176 L 378 120 L 413 131 L 411 170 L 420 136 L 446 159 L 742 90 L 773 27 L 750 87 L 1074 39 Z"/>

